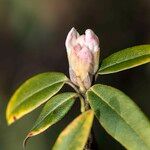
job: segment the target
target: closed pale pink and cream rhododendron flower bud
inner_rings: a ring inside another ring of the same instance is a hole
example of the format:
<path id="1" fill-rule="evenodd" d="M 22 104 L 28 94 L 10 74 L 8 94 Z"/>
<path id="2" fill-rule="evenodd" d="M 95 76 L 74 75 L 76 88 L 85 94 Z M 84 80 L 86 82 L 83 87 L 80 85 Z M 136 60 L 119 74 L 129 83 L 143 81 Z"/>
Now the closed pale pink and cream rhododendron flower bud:
<path id="1" fill-rule="evenodd" d="M 71 81 L 85 92 L 92 84 L 93 75 L 99 66 L 99 39 L 95 33 L 87 29 L 79 35 L 72 28 L 66 39 Z"/>

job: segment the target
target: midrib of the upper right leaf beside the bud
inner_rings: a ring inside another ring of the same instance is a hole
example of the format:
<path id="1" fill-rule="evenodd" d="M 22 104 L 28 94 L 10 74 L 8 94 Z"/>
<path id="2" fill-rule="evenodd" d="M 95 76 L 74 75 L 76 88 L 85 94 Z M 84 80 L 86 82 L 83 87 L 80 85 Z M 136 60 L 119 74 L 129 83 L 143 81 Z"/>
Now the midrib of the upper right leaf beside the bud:
<path id="1" fill-rule="evenodd" d="M 137 58 L 140 58 L 140 57 L 144 57 L 144 56 L 148 56 L 148 55 L 150 55 L 150 54 L 145 54 L 145 55 L 141 55 L 141 56 L 138 56 L 138 57 L 133 57 L 133 58 L 131 58 L 131 59 L 124 59 L 124 60 L 122 60 L 122 61 L 119 61 L 119 62 L 114 62 L 113 64 L 109 64 L 108 66 L 106 66 L 106 67 L 104 67 L 104 68 L 100 68 L 100 72 L 101 71 L 103 71 L 103 70 L 105 70 L 105 69 L 108 69 L 108 68 L 110 68 L 110 67 L 114 67 L 114 66 L 116 66 L 116 65 L 118 65 L 118 64 L 121 64 L 121 63 L 125 63 L 125 62 L 127 62 L 127 61 L 131 61 L 131 60 L 133 60 L 133 59 L 137 59 Z M 107 59 L 107 58 L 106 58 Z M 105 60 L 104 60 L 105 61 Z M 102 62 L 103 63 L 103 62 Z"/>

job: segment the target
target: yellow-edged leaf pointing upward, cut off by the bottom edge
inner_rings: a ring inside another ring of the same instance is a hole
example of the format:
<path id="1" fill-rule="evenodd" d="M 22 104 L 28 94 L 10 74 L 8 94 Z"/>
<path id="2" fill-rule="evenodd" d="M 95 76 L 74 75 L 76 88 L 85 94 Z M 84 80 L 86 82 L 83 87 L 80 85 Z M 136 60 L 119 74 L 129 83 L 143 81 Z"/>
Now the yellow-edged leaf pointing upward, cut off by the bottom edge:
<path id="1" fill-rule="evenodd" d="M 53 150 L 83 150 L 93 123 L 94 114 L 88 110 L 74 119 L 59 135 Z"/>

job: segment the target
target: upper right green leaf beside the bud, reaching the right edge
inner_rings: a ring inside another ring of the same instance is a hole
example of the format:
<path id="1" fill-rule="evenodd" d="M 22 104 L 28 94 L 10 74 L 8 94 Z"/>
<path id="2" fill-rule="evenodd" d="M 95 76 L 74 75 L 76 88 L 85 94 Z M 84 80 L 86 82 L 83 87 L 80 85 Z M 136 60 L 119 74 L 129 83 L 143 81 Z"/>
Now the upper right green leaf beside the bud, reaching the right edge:
<path id="1" fill-rule="evenodd" d="M 130 47 L 105 58 L 98 74 L 110 74 L 150 62 L 150 45 Z"/>

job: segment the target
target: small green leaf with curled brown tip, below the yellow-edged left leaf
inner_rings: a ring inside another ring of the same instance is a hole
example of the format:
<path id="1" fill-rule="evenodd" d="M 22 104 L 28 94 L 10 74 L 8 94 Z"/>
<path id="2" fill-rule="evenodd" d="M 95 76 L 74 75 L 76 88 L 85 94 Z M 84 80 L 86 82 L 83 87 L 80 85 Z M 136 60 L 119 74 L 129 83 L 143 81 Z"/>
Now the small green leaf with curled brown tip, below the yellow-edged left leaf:
<path id="1" fill-rule="evenodd" d="M 66 92 L 52 97 L 44 106 L 28 137 L 35 136 L 61 120 L 74 104 L 76 93 Z"/>

